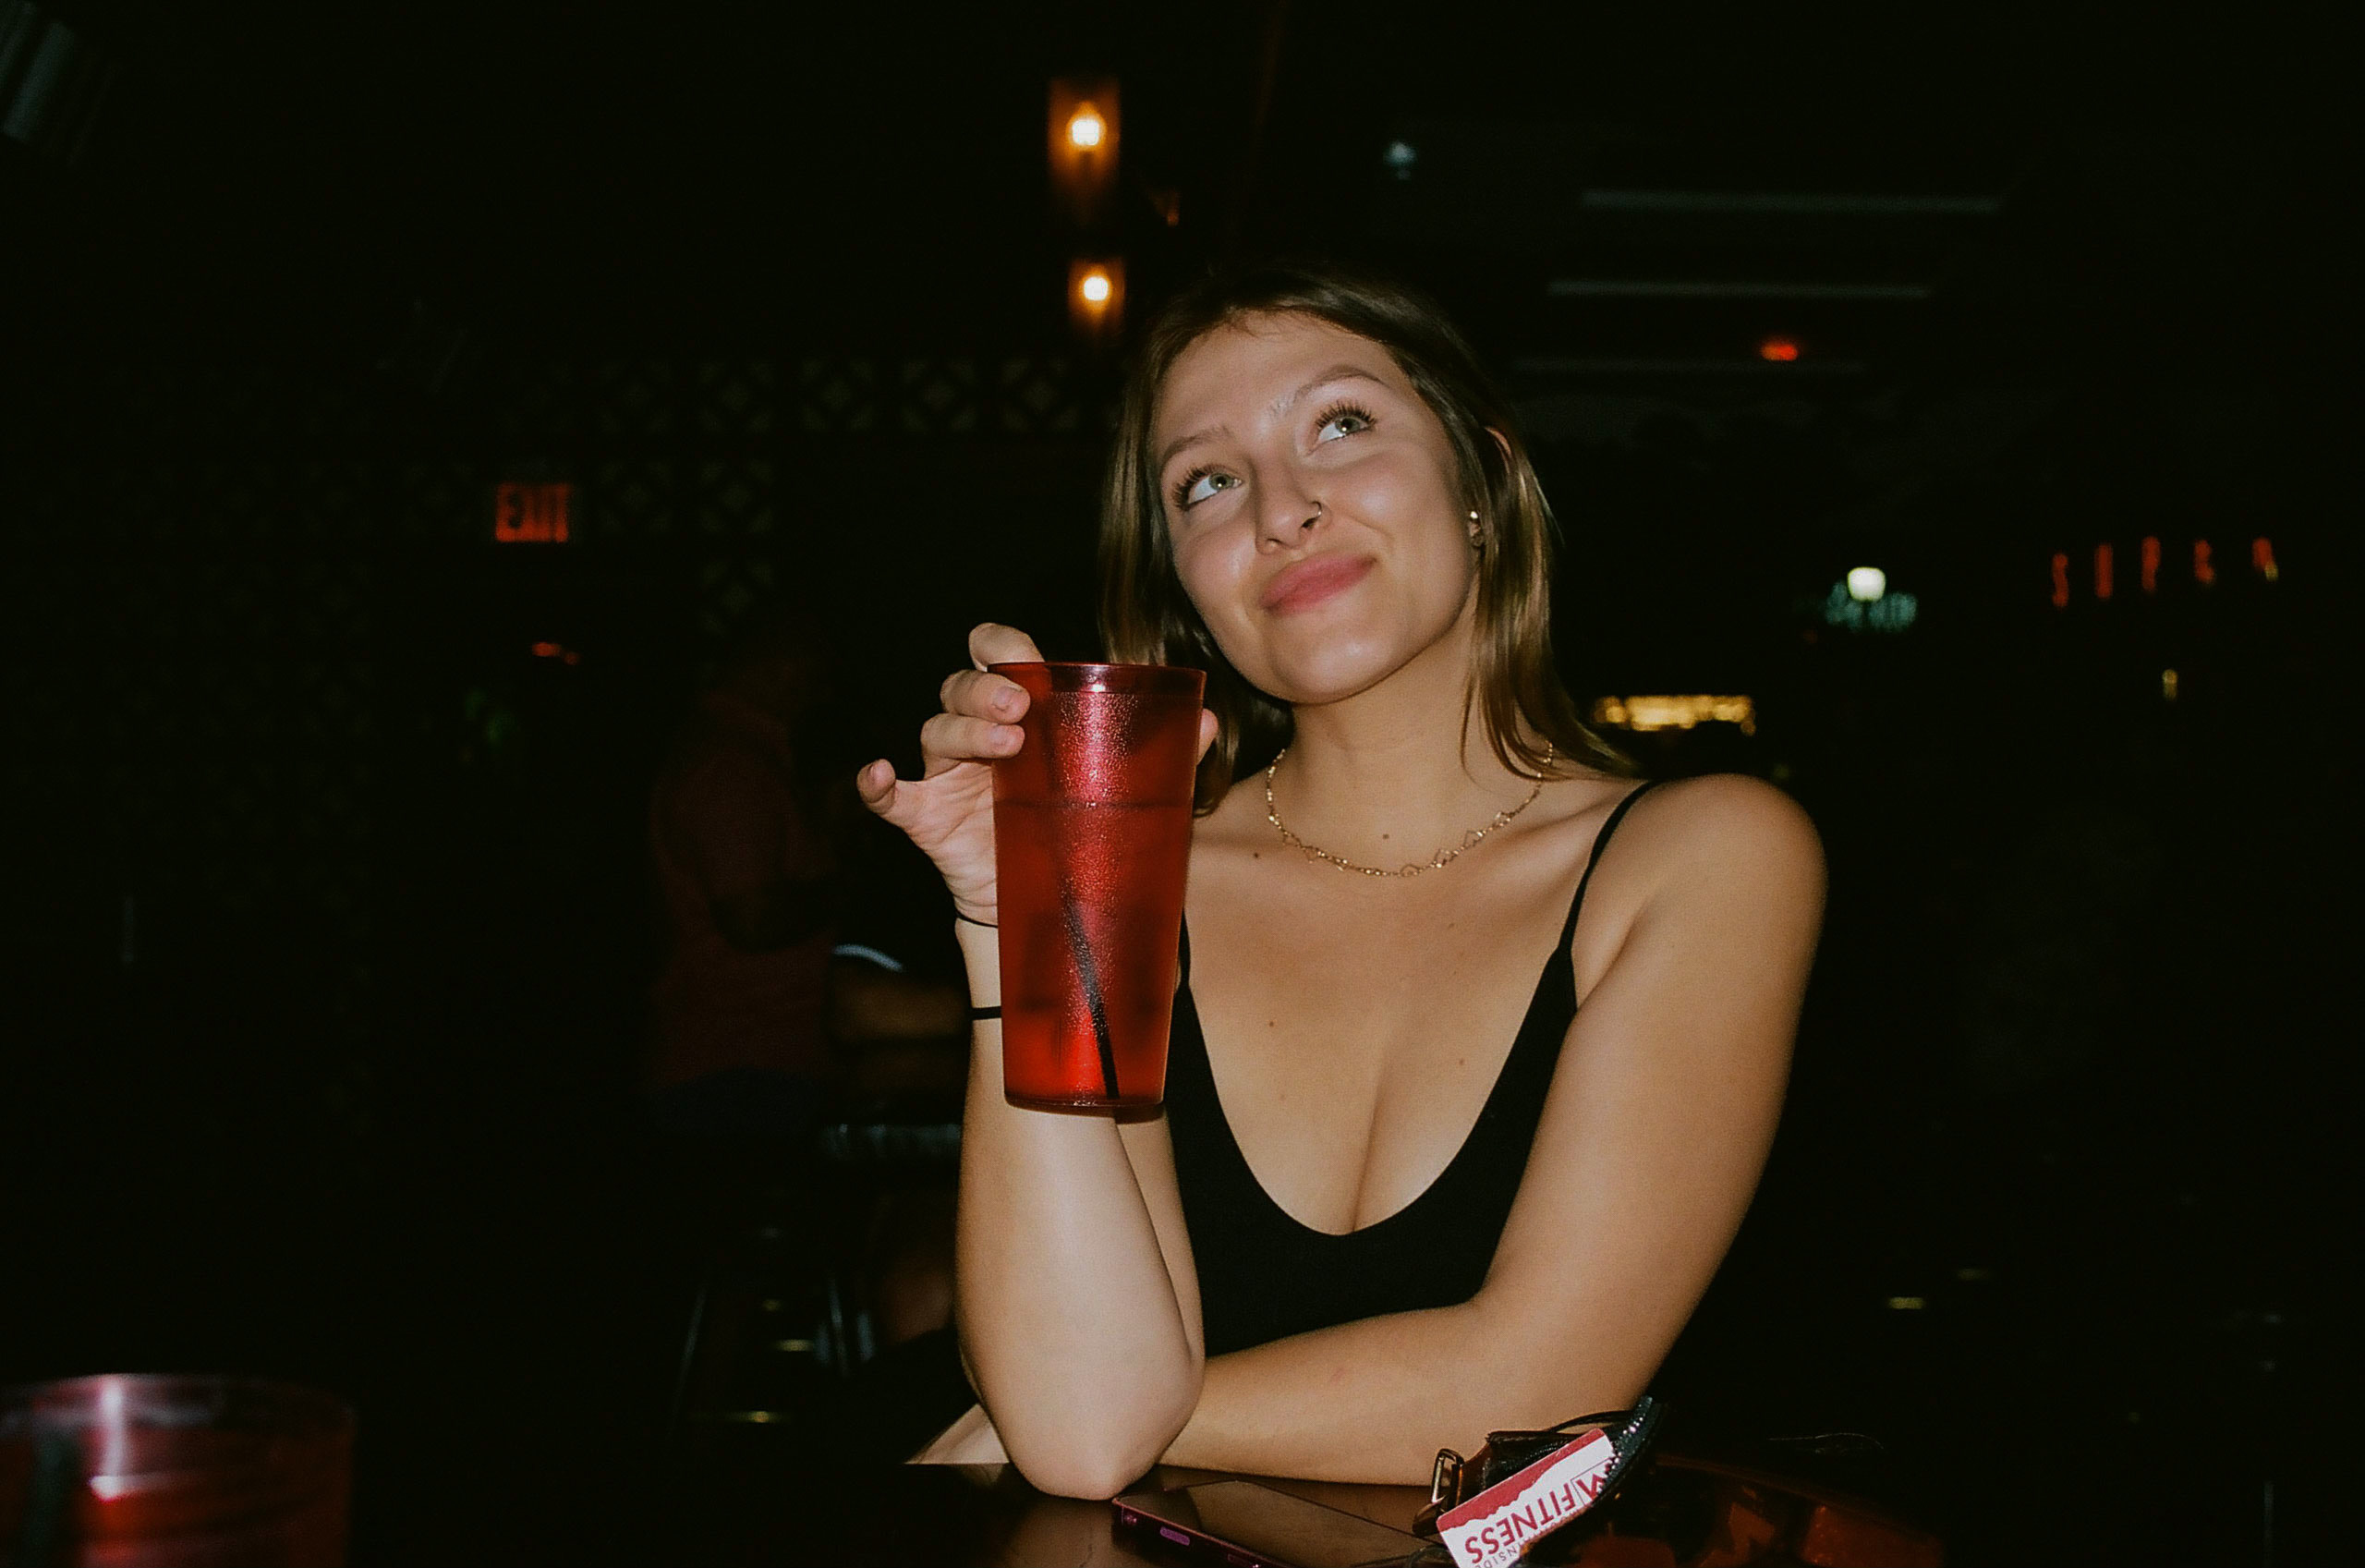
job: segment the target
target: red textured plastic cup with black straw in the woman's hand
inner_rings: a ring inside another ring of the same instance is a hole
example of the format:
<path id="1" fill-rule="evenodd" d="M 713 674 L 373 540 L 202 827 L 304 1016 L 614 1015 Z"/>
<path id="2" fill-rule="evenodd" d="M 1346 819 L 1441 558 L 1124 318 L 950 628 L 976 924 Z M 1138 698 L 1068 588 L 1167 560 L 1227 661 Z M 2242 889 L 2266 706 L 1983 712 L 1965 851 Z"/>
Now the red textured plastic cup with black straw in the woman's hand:
<path id="1" fill-rule="evenodd" d="M 993 665 L 1026 745 L 993 766 L 1003 1093 L 1038 1107 L 1166 1097 L 1206 674 Z"/>

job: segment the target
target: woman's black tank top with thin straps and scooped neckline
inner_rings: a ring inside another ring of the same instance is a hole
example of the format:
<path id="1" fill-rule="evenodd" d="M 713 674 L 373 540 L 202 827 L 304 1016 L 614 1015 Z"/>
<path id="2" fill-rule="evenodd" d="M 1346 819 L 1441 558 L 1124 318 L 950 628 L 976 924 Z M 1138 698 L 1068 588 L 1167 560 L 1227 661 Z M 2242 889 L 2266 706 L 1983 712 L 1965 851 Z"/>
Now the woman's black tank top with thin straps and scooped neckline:
<path id="1" fill-rule="evenodd" d="M 1528 1017 L 1488 1093 L 1478 1121 L 1438 1180 L 1384 1220 L 1334 1237 L 1301 1225 L 1265 1192 L 1232 1140 L 1216 1097 L 1199 1007 L 1190 996 L 1190 927 L 1182 927 L 1182 984 L 1175 989 L 1166 1057 L 1166 1128 L 1175 1147 L 1182 1220 L 1199 1265 L 1206 1353 L 1246 1350 L 1289 1334 L 1381 1313 L 1457 1305 L 1478 1294 L 1495 1261 L 1528 1149 L 1544 1116 L 1544 1093 L 1577 1017 L 1568 944 L 1585 908 L 1601 849 L 1644 790 L 1618 802 L 1577 877 L 1561 939 L 1535 981 Z"/>

